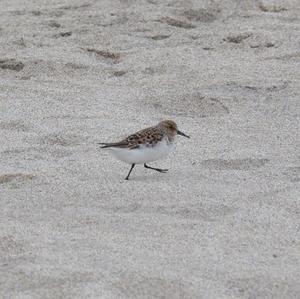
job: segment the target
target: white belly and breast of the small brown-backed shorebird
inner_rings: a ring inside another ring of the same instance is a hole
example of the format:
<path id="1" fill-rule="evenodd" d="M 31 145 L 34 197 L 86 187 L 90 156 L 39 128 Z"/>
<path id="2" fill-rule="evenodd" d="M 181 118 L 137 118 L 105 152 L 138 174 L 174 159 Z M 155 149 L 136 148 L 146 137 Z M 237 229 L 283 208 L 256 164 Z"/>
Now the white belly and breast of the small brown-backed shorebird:
<path id="1" fill-rule="evenodd" d="M 155 146 L 141 146 L 137 149 L 108 148 L 119 160 L 128 164 L 142 164 L 153 162 L 167 156 L 173 148 L 173 144 L 163 139 Z"/>

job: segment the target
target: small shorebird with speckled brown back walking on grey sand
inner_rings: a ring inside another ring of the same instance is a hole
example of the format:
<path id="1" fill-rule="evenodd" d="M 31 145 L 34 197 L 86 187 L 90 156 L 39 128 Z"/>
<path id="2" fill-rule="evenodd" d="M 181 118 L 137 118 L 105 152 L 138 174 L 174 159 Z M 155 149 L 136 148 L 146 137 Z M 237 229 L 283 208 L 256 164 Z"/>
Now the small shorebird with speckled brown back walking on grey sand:
<path id="1" fill-rule="evenodd" d="M 127 138 L 112 143 L 99 143 L 101 148 L 106 148 L 119 160 L 131 164 L 125 180 L 129 179 L 131 171 L 136 164 L 144 164 L 145 168 L 162 173 L 168 169 L 160 169 L 148 166 L 147 162 L 153 162 L 165 157 L 174 146 L 175 135 L 190 138 L 177 129 L 172 120 L 164 120 L 154 127 L 138 131 Z"/>

